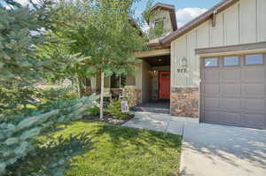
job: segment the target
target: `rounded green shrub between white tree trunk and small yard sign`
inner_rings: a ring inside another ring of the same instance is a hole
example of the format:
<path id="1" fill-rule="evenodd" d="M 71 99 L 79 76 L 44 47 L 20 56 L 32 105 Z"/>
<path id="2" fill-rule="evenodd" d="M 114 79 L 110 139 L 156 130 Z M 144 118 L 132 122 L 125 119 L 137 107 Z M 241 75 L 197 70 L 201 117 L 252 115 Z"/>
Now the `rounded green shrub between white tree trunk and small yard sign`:
<path id="1" fill-rule="evenodd" d="M 111 102 L 107 111 L 114 119 L 127 119 L 130 116 L 129 112 L 121 112 L 121 100 Z"/>

